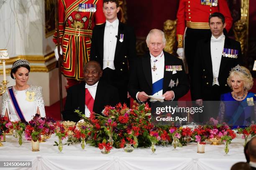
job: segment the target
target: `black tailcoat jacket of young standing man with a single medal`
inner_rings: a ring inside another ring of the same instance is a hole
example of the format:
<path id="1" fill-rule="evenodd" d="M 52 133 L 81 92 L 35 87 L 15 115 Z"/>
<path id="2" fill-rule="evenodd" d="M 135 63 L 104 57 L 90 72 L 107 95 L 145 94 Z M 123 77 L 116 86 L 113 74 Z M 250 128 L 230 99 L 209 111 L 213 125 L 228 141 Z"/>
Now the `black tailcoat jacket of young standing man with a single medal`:
<path id="1" fill-rule="evenodd" d="M 106 23 L 96 25 L 92 32 L 92 47 L 90 60 L 100 62 L 103 68 L 104 31 Z M 123 34 L 123 42 L 120 42 L 120 34 Z M 128 76 L 128 68 L 133 65 L 136 58 L 136 36 L 133 28 L 119 22 L 118 35 L 116 37 L 114 66 L 118 76 Z M 128 80 L 128 77 L 127 77 Z"/>

